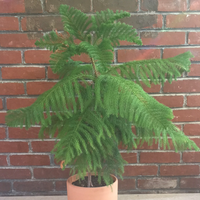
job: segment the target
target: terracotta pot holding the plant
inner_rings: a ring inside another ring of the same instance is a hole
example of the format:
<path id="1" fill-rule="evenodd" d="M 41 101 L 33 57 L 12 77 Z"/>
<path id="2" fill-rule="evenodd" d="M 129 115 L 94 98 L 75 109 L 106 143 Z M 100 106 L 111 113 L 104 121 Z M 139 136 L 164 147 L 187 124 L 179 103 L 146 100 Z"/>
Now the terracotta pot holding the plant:
<path id="1" fill-rule="evenodd" d="M 79 179 L 77 175 L 71 176 L 67 180 L 68 200 L 117 200 L 118 179 L 111 175 L 114 183 L 111 186 L 87 188 L 72 185 L 72 182 Z"/>

